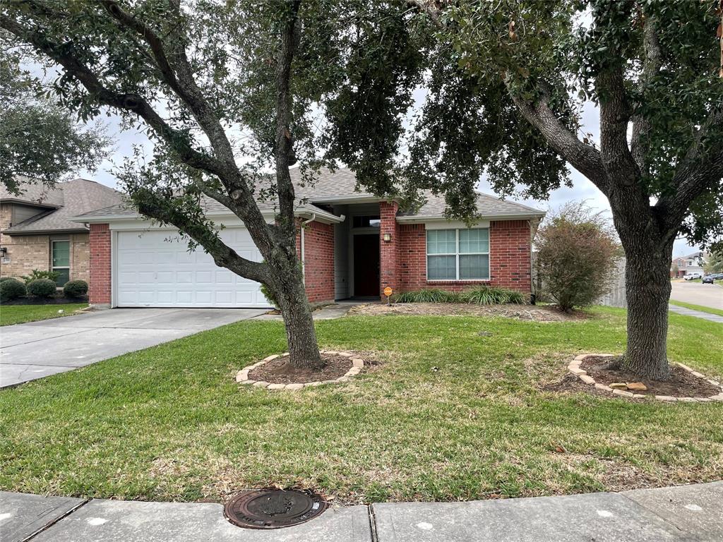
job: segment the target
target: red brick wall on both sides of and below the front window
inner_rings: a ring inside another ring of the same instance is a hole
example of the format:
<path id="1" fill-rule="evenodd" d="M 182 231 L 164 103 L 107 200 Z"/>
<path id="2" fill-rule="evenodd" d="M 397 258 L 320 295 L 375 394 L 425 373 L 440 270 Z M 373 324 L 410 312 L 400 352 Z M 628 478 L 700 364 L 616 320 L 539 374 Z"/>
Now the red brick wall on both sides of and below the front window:
<path id="1" fill-rule="evenodd" d="M 489 225 L 490 280 L 427 282 L 427 233 L 424 224 L 398 226 L 398 288 L 401 291 L 440 288 L 460 291 L 470 285 L 489 284 L 530 292 L 530 223 L 495 220 Z"/>

